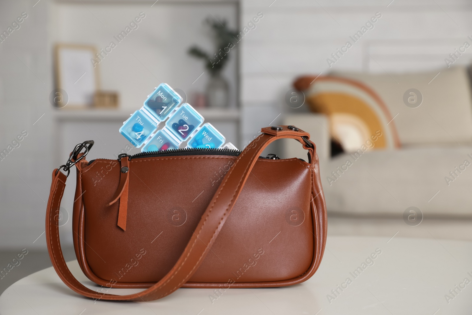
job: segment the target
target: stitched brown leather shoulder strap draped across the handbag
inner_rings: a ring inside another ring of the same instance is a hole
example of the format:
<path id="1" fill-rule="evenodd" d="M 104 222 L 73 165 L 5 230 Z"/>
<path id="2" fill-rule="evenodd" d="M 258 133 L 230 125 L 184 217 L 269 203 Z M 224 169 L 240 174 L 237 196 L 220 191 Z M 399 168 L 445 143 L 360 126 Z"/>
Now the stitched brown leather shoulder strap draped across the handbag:
<path id="1" fill-rule="evenodd" d="M 46 210 L 46 240 L 52 265 L 61 280 L 64 281 L 70 289 L 73 289 L 85 297 L 105 300 L 150 301 L 163 298 L 180 288 L 190 279 L 202 263 L 203 258 L 208 254 L 219 234 L 219 231 L 225 224 L 229 213 L 236 203 L 255 162 L 267 145 L 279 138 L 296 139 L 309 151 L 308 155 L 312 167 L 317 167 L 316 164 L 318 163 L 318 158 L 315 153 L 315 145 L 308 140 L 310 135 L 296 128 L 297 131 L 288 129 L 287 126 L 282 127 L 283 129 L 281 131 L 272 130 L 271 128 L 263 128 L 262 134 L 246 146 L 244 151 L 236 159 L 235 164 L 222 180 L 206 211 L 203 213 L 202 219 L 198 223 L 192 238 L 190 238 L 190 241 L 185 247 L 182 255 L 180 255 L 175 266 L 159 282 L 149 289 L 131 295 L 120 296 L 99 293 L 88 289 L 80 283 L 67 268 L 67 264 L 60 248 L 58 224 L 59 207 L 64 193 L 64 188 L 66 187 L 67 177 L 60 171 L 56 174 L 57 169 L 54 170 L 52 173 L 51 192 Z M 320 185 L 319 189 L 321 189 Z M 314 199 L 315 202 L 318 202 L 318 204 L 321 205 L 321 209 L 317 210 L 322 210 L 326 213 L 324 197 L 321 191 L 318 192 L 318 195 L 320 196 L 315 196 Z M 318 201 L 316 199 L 318 199 Z M 326 231 L 321 232 L 317 237 L 319 241 L 324 243 L 326 239 Z M 320 244 L 317 246 L 324 248 L 324 246 Z M 322 255 L 322 250 L 317 252 L 317 260 L 319 261 L 320 255 Z"/>

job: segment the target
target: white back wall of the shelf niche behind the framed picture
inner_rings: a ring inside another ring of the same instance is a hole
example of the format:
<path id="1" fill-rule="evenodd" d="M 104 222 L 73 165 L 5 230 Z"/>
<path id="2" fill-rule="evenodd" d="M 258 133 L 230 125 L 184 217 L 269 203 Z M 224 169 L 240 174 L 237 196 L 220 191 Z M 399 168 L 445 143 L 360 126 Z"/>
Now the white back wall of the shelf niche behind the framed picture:
<path id="1" fill-rule="evenodd" d="M 152 5 L 153 2 L 68 1 L 53 5 L 51 10 L 51 44 L 84 43 L 97 50 L 105 49 L 112 41 L 117 44 L 98 65 L 101 88 L 119 91 L 120 107 L 130 111 L 142 106 L 161 81 L 185 91 L 188 102 L 192 102 L 194 92 L 204 92 L 210 73 L 203 67 L 203 60 L 187 51 L 192 45 L 214 51 L 212 33 L 203 20 L 211 17 L 210 11 L 219 20 L 226 20 L 231 29 L 237 25 L 235 3 L 205 2 L 203 7 L 197 1 L 158 1 Z M 146 17 L 118 43 L 113 36 L 129 26 L 140 12 Z M 236 107 L 234 51 L 223 76 L 231 87 L 230 105 Z"/>

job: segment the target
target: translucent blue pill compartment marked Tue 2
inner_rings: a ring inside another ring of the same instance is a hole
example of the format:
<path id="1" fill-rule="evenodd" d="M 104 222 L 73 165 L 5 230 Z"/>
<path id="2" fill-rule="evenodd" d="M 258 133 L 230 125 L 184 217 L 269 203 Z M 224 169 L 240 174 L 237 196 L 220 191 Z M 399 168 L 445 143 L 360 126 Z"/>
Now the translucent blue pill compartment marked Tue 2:
<path id="1" fill-rule="evenodd" d="M 203 116 L 188 104 L 182 104 L 166 122 L 166 128 L 180 141 L 185 141 L 203 123 Z"/>

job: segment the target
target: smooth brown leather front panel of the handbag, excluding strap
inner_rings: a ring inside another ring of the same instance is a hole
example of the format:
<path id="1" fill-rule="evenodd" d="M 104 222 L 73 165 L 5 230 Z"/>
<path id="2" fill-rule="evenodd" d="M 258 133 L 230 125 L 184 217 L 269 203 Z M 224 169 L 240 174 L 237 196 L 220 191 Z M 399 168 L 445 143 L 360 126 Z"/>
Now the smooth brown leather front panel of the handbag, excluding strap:
<path id="1" fill-rule="evenodd" d="M 118 204 L 107 206 L 117 189 L 119 165 L 93 189 L 94 170 L 110 163 L 94 161 L 81 174 L 87 191 L 83 196 L 87 244 L 82 244 L 89 266 L 86 272 L 106 282 L 159 281 L 184 251 L 218 188 L 212 186 L 211 174 L 235 160 L 216 155 L 132 159 L 126 232 L 116 226 Z M 202 170 L 209 170 L 206 176 Z M 305 272 L 313 257 L 311 189 L 308 163 L 259 159 L 211 252 L 190 281 L 226 283 L 259 248 L 267 254 L 257 260 L 257 272 L 244 272 L 236 282 L 287 280 Z M 293 207 L 305 213 L 306 221 L 298 227 L 285 220 Z M 172 221 L 178 216 L 182 225 Z M 139 264 L 118 272 L 142 248 L 146 254 Z"/>

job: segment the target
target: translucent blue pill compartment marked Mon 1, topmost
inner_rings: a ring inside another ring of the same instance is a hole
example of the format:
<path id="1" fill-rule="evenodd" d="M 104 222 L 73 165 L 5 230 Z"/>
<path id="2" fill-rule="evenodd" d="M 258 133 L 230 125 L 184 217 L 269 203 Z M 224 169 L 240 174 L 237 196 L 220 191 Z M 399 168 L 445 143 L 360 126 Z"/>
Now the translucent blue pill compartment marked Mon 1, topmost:
<path id="1" fill-rule="evenodd" d="M 183 101 L 169 85 L 161 83 L 144 101 L 144 108 L 157 120 L 166 120 L 170 113 Z"/>

